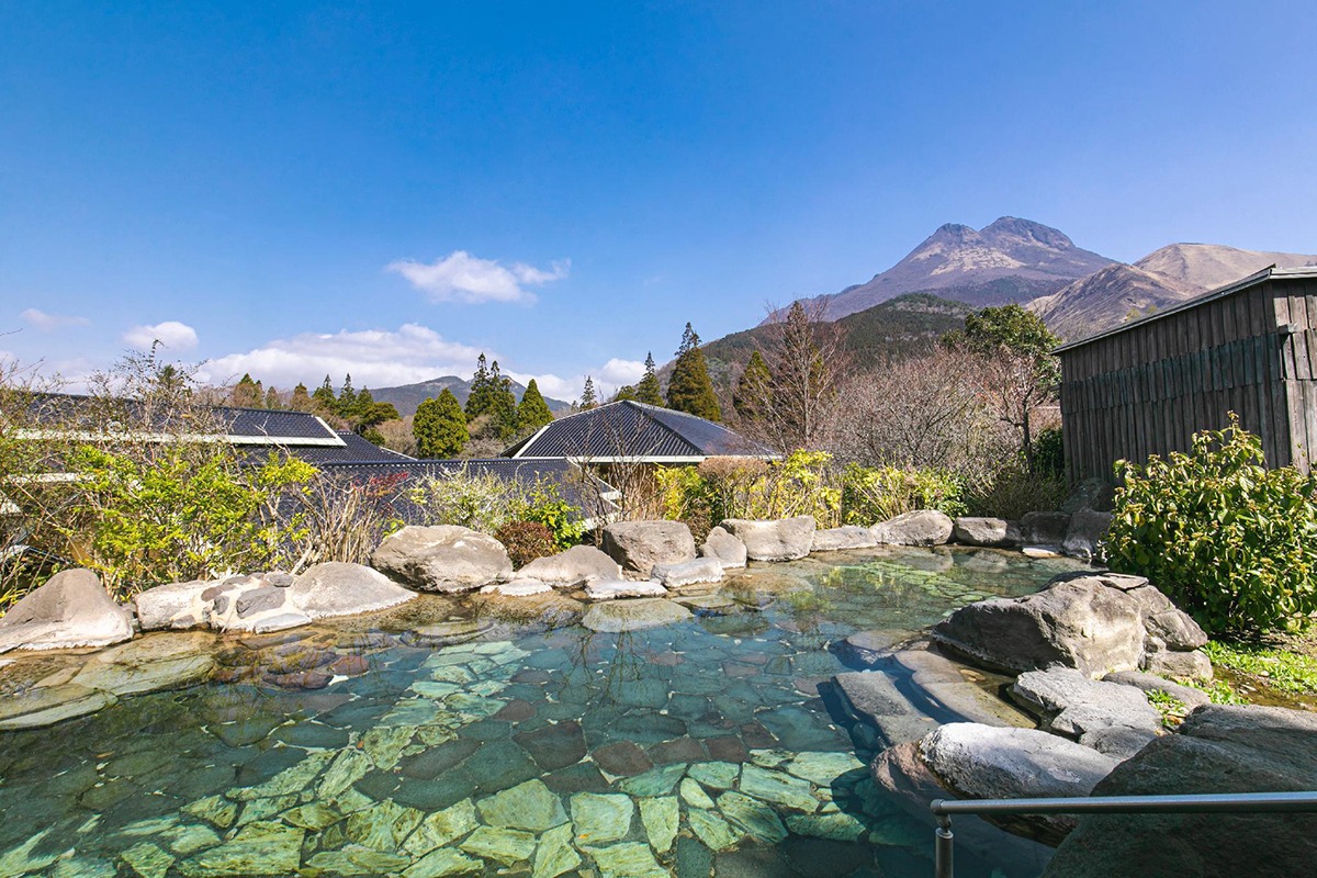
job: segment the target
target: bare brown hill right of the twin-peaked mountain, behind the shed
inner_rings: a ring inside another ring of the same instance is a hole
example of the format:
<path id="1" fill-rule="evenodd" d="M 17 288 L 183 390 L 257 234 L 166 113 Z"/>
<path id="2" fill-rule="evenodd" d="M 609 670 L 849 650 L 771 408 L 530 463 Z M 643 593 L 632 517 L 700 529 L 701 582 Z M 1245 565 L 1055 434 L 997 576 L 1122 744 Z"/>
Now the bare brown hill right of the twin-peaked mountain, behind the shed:
<path id="1" fill-rule="evenodd" d="M 1029 308 L 1047 328 L 1075 341 L 1196 299 L 1270 265 L 1317 265 L 1317 255 L 1239 250 L 1218 244 L 1172 244 L 1134 265 L 1113 265 Z"/>

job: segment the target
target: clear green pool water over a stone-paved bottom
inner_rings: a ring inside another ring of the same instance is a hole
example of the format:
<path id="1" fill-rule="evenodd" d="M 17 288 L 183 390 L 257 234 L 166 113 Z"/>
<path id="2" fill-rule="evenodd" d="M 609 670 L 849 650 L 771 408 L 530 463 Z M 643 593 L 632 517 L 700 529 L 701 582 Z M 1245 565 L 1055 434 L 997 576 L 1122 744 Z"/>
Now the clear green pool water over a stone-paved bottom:
<path id="1" fill-rule="evenodd" d="M 872 753 L 820 695 L 848 670 L 827 646 L 919 632 L 1075 565 L 828 561 L 753 567 L 720 592 L 735 606 L 622 634 L 515 599 L 423 598 L 223 641 L 228 677 L 248 679 L 0 733 L 0 875 L 928 875 L 931 824 L 872 785 Z M 450 619 L 491 624 L 403 641 Z M 369 670 L 315 691 L 262 673 L 345 656 Z M 957 875 L 1044 865 L 1000 841 L 961 844 Z"/>

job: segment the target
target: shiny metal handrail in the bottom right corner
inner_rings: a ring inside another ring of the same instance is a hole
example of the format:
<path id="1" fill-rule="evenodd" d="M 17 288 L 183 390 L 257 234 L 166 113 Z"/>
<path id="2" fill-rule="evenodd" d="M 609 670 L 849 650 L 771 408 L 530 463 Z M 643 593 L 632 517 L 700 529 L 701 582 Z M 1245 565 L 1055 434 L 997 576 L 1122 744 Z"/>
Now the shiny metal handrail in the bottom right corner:
<path id="1" fill-rule="evenodd" d="M 934 875 L 952 878 L 954 813 L 1287 813 L 1317 811 L 1313 792 L 1209 792 L 1200 795 L 1112 795 L 1056 799 L 934 799 Z"/>

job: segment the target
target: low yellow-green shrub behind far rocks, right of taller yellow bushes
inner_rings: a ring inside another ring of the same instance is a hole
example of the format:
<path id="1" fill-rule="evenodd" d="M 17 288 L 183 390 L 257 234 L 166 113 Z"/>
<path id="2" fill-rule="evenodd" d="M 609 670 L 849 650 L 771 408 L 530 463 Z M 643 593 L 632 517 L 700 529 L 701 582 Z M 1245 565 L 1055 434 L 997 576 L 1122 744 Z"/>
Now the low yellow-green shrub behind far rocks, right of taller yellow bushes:
<path id="1" fill-rule="evenodd" d="M 842 473 L 846 524 L 872 525 L 915 509 L 965 515 L 964 484 L 950 473 L 852 463 Z"/>

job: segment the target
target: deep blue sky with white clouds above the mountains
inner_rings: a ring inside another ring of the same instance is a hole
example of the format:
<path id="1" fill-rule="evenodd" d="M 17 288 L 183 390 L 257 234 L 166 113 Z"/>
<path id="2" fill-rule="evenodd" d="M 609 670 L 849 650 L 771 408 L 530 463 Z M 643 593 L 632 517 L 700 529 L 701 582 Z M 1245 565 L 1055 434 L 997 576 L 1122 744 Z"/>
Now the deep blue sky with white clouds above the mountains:
<path id="1" fill-rule="evenodd" d="M 557 396 L 943 222 L 1317 251 L 1308 4 L 0 5 L 0 350 Z"/>

